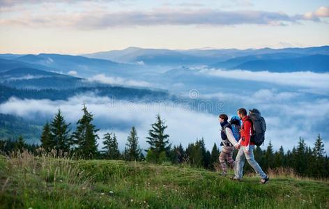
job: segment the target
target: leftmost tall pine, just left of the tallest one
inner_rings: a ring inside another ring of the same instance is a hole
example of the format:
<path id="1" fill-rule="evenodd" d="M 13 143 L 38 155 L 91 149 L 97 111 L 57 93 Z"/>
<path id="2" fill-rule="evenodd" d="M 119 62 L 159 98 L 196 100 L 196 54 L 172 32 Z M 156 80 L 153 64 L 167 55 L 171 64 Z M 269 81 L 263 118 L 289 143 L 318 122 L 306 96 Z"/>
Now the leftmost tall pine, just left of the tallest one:
<path id="1" fill-rule="evenodd" d="M 54 143 L 54 149 L 59 153 L 60 151 L 68 152 L 70 148 L 70 123 L 66 124 L 64 117 L 61 114 L 61 109 L 54 116 L 50 125 L 51 141 Z"/>

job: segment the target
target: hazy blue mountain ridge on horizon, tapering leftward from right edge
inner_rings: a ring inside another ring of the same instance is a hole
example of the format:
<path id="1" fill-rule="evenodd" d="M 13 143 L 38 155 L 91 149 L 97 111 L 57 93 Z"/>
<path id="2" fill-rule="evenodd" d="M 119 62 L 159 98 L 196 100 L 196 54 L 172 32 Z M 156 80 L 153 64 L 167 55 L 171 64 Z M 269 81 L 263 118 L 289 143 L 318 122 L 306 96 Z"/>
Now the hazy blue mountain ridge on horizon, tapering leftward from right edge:
<path id="1" fill-rule="evenodd" d="M 143 49 L 96 52 L 83 56 L 145 65 L 208 65 L 211 68 L 291 72 L 329 72 L 329 46 L 283 49 Z M 305 57 L 304 59 L 298 59 Z M 301 61 L 301 62 L 300 62 Z M 290 63 L 289 63 L 290 62 Z M 300 62 L 293 63 L 293 62 Z M 305 68 L 306 66 L 306 68 Z"/>

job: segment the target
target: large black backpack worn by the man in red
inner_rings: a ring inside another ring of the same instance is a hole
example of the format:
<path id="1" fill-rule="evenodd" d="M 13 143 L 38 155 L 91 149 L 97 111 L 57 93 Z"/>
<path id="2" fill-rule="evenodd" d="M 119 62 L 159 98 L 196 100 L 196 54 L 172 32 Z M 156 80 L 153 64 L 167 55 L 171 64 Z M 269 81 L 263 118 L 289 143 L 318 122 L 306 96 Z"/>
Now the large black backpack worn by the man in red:
<path id="1" fill-rule="evenodd" d="M 266 123 L 265 119 L 261 116 L 258 109 L 250 109 L 249 115 L 250 121 L 252 121 L 253 134 L 250 138 L 254 144 L 261 146 L 265 140 Z"/>

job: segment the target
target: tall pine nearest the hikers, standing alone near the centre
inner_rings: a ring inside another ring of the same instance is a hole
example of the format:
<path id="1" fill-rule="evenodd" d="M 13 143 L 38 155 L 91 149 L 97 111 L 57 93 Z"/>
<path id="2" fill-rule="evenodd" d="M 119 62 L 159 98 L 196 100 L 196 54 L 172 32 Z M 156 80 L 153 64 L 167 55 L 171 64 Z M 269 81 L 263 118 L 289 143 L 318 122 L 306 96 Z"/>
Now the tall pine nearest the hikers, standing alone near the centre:
<path id="1" fill-rule="evenodd" d="M 148 150 L 151 150 L 150 153 L 153 153 L 155 157 L 159 157 L 161 153 L 165 153 L 169 157 L 171 144 L 169 144 L 169 135 L 164 133 L 167 125 L 164 125 L 160 115 L 157 116 L 157 121 L 151 127 L 151 130 L 148 131 L 149 137 L 146 137 L 148 139 L 146 142 L 150 145 Z"/>

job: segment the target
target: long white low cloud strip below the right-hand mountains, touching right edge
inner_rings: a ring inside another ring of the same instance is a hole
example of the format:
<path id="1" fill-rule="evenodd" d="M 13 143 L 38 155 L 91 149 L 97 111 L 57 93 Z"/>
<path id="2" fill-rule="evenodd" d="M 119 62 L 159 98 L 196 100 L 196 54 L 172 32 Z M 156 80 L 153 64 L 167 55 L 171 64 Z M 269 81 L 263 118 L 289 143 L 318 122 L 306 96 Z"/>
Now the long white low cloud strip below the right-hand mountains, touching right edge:
<path id="1" fill-rule="evenodd" d="M 313 88 L 319 93 L 328 93 L 329 91 L 329 73 L 268 71 L 252 72 L 248 70 L 221 70 L 214 68 L 203 68 L 199 72 L 215 77 L 266 82 L 284 86 Z"/>

